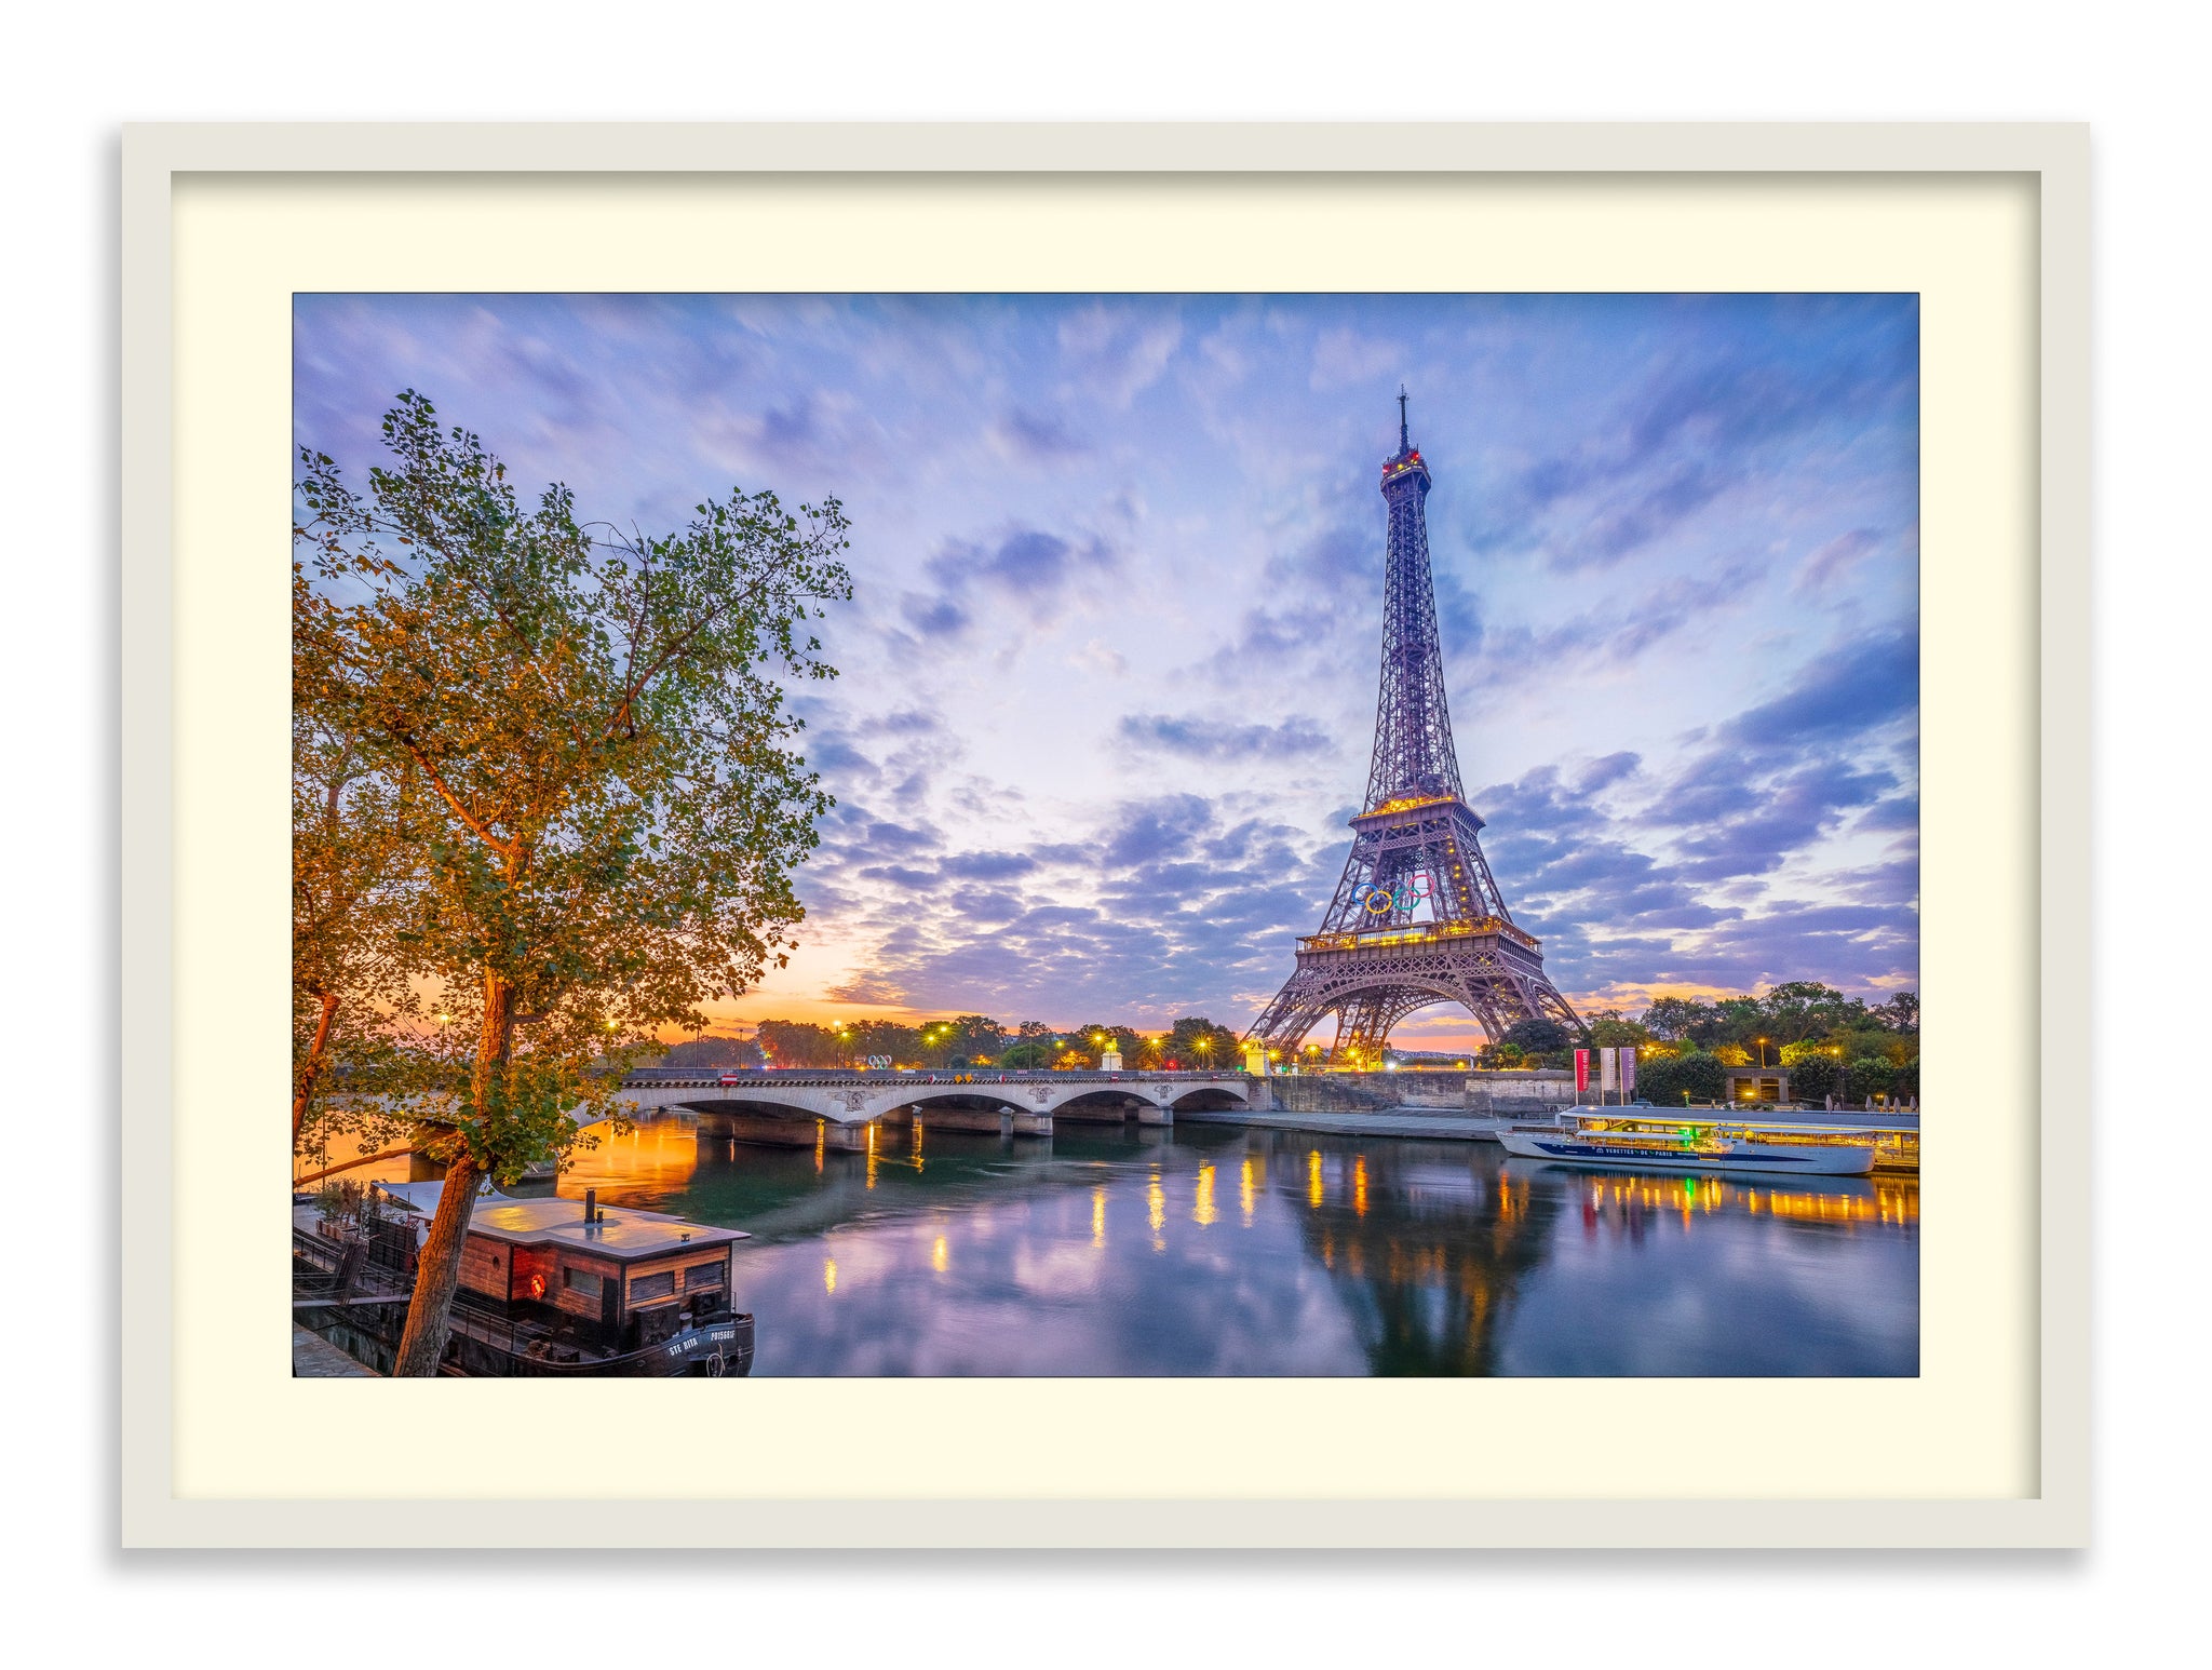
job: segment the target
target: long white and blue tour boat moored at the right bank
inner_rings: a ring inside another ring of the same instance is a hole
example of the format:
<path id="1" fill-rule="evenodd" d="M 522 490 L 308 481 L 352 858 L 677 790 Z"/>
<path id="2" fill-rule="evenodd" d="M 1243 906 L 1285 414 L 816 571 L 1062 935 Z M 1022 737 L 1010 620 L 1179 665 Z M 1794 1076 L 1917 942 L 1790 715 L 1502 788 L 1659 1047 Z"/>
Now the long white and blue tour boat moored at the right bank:
<path id="1" fill-rule="evenodd" d="M 1865 1177 L 1874 1135 L 1851 1126 L 1694 1119 L 1646 1108 L 1566 1108 L 1548 1126 L 1498 1133 L 1509 1155 L 1564 1166 L 1617 1166 L 1661 1172 L 1790 1172 Z"/>

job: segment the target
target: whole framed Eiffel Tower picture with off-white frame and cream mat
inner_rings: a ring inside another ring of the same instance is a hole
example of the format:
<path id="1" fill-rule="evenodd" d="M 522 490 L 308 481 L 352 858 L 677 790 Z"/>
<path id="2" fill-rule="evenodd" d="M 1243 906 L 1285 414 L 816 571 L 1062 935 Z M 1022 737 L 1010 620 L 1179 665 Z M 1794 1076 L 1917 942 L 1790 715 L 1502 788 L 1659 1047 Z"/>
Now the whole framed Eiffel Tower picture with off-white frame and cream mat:
<path id="1" fill-rule="evenodd" d="M 2086 237 L 128 131 L 126 1542 L 2079 1546 Z"/>

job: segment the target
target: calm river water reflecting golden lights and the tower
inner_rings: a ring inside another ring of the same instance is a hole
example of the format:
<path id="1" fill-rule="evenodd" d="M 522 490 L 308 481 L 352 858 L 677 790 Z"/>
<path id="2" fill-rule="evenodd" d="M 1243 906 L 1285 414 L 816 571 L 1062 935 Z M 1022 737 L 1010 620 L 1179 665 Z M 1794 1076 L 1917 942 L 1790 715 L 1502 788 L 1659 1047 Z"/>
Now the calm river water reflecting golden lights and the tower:
<path id="1" fill-rule="evenodd" d="M 1920 1369 L 1911 1179 L 1208 1124 L 925 1126 L 874 1155 L 699 1141 L 681 1115 L 597 1135 L 562 1194 L 752 1232 L 754 1374 Z"/>

